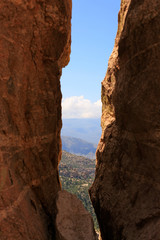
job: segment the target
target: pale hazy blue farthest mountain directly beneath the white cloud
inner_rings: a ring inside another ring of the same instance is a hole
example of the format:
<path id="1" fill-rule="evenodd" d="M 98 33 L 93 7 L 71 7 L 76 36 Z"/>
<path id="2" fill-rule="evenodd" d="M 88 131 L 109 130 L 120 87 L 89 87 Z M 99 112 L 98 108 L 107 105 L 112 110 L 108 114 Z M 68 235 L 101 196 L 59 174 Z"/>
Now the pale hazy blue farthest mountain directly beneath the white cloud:
<path id="1" fill-rule="evenodd" d="M 62 136 L 83 139 L 98 144 L 101 137 L 100 118 L 98 119 L 63 119 Z"/>

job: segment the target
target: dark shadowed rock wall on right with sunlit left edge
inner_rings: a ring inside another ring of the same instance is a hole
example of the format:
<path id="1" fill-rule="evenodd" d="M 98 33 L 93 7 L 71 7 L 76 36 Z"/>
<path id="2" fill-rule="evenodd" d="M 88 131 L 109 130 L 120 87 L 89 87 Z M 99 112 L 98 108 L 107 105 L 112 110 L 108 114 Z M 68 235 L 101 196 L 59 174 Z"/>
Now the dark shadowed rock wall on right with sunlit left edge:
<path id="1" fill-rule="evenodd" d="M 160 239 L 160 1 L 123 0 L 91 199 L 106 240 Z"/>

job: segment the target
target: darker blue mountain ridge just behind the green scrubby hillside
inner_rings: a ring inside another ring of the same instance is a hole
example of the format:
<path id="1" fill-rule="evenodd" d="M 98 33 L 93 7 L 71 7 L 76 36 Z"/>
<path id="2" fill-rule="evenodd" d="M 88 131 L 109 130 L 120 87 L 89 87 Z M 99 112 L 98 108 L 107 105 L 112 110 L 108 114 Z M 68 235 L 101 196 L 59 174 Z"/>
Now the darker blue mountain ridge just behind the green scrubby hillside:
<path id="1" fill-rule="evenodd" d="M 62 150 L 95 159 L 96 145 L 79 138 L 62 136 Z"/>

